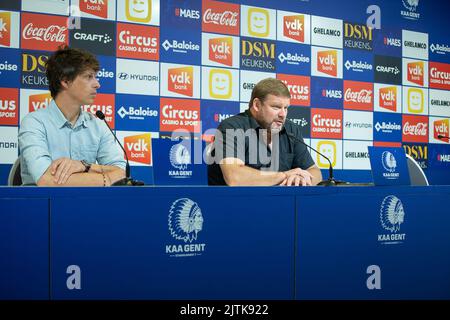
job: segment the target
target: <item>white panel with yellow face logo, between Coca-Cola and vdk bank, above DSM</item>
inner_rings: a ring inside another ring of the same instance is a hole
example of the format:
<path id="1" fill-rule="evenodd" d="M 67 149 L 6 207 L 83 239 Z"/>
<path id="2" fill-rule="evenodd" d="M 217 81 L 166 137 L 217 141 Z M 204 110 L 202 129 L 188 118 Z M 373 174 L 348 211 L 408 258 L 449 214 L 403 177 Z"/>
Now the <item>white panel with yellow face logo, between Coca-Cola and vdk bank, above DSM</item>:
<path id="1" fill-rule="evenodd" d="M 276 38 L 275 10 L 241 5 L 241 36 Z"/>

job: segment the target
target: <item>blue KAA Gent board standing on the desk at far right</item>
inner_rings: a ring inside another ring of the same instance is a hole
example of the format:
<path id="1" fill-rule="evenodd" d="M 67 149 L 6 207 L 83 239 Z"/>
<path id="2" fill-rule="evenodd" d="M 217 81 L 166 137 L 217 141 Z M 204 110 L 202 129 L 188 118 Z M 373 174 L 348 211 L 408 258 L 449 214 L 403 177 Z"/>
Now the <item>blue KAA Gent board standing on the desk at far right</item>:
<path id="1" fill-rule="evenodd" d="M 370 166 L 376 186 L 410 185 L 405 150 L 402 147 L 369 146 Z"/>

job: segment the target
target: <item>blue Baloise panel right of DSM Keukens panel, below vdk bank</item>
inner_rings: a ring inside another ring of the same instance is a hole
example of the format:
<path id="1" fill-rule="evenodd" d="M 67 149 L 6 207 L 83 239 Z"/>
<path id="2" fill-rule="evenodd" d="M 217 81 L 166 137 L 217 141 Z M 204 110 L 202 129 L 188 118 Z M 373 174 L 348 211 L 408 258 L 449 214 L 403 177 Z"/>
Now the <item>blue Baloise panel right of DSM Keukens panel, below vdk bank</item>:
<path id="1" fill-rule="evenodd" d="M 310 75 L 311 46 L 277 42 L 276 69 L 278 73 Z"/>

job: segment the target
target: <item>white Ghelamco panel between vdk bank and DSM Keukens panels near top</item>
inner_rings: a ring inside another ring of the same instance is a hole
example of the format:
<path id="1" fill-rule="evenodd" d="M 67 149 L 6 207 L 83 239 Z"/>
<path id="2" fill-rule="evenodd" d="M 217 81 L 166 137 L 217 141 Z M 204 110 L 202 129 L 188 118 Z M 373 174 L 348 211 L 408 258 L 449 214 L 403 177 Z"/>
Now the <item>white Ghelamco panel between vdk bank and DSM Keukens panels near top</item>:
<path id="1" fill-rule="evenodd" d="M 342 20 L 311 16 L 311 44 L 342 49 L 342 27 Z"/>

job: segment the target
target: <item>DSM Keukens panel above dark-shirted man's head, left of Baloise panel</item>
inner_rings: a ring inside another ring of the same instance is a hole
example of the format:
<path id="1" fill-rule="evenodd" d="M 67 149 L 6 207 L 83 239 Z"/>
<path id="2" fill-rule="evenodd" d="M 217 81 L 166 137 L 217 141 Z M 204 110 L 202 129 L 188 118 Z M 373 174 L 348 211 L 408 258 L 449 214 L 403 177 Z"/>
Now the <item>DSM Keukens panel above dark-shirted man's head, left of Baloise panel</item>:
<path id="1" fill-rule="evenodd" d="M 275 70 L 275 42 L 241 39 L 241 67 L 250 70 Z"/>

